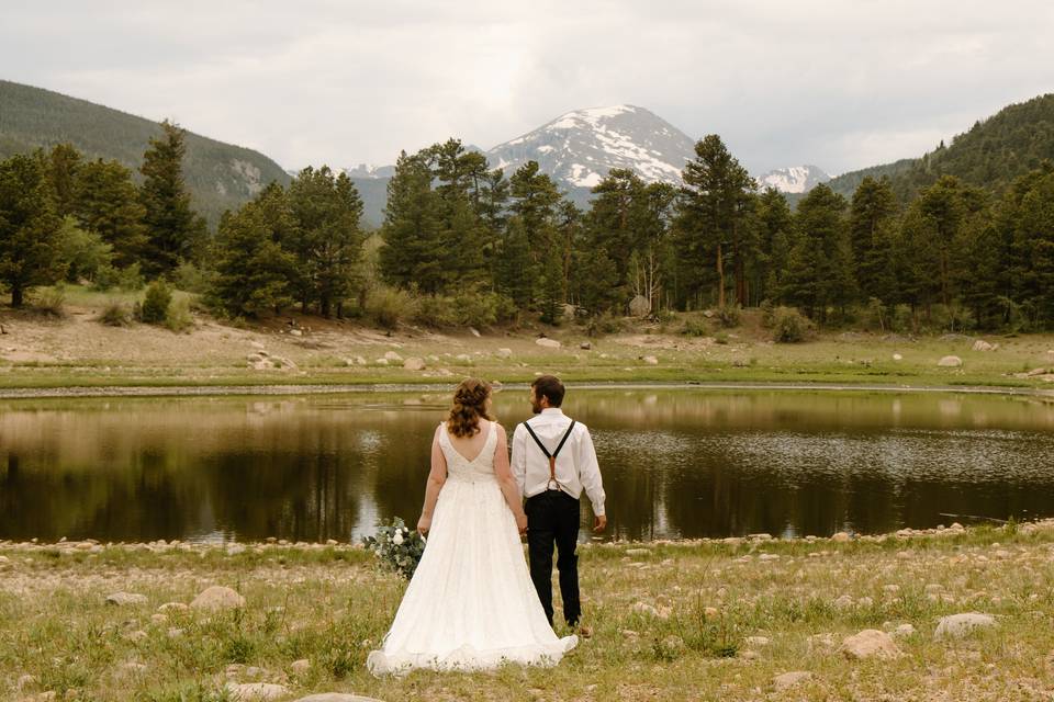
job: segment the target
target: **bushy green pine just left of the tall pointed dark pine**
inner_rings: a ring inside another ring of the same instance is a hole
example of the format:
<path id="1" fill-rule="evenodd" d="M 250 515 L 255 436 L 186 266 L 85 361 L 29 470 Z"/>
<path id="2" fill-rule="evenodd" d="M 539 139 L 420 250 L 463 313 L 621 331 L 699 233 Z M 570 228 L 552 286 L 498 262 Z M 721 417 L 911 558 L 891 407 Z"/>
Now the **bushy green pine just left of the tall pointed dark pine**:
<path id="1" fill-rule="evenodd" d="M 142 261 L 147 247 L 146 210 L 139 204 L 132 172 L 99 159 L 80 167 L 74 189 L 74 214 L 85 228 L 113 248 L 114 263 Z"/>

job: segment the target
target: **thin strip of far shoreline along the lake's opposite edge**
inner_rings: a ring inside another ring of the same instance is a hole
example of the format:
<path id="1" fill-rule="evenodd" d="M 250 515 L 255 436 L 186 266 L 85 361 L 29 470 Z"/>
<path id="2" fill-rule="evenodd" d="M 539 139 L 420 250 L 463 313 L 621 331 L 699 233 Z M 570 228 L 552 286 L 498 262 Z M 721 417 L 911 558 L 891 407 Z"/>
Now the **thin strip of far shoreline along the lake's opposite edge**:
<path id="1" fill-rule="evenodd" d="M 569 381 L 569 387 L 580 390 L 599 389 L 718 389 L 718 390 L 777 390 L 777 392 L 864 392 L 864 393 L 946 393 L 963 395 L 1008 395 L 1054 398 L 1054 390 L 1040 387 L 1002 385 L 894 385 L 883 383 L 781 383 L 740 381 Z M 340 395 L 368 393 L 438 393 L 456 386 L 451 383 L 361 383 L 361 384 L 266 384 L 266 385 L 69 385 L 61 387 L 9 387 L 0 389 L 0 400 L 90 397 L 218 397 L 218 396 L 289 396 Z M 498 389 L 527 389 L 528 383 L 496 383 Z"/>

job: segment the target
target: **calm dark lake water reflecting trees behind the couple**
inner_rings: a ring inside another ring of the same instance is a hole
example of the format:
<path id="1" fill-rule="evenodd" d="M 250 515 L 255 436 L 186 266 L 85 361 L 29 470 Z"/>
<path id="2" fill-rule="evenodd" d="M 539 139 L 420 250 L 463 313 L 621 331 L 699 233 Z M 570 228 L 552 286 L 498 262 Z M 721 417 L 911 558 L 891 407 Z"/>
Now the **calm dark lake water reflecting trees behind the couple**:
<path id="1" fill-rule="evenodd" d="M 507 428 L 525 398 L 497 395 Z M 344 541 L 413 524 L 447 400 L 0 403 L 0 539 Z M 1035 399 L 572 390 L 564 409 L 593 431 L 620 537 L 1054 516 L 1054 406 Z"/>

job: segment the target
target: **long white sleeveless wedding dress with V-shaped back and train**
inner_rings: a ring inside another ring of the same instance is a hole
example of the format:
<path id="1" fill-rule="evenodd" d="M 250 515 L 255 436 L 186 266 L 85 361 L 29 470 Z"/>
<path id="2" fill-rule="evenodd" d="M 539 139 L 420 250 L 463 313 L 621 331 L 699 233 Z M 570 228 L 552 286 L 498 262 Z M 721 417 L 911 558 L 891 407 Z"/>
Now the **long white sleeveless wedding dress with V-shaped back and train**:
<path id="1" fill-rule="evenodd" d="M 504 663 L 553 666 L 579 642 L 558 638 L 530 581 L 516 519 L 494 475 L 493 422 L 472 461 L 439 445 L 447 482 L 439 491 L 428 544 L 381 650 L 367 667 L 375 676 L 414 668 L 482 670 Z"/>

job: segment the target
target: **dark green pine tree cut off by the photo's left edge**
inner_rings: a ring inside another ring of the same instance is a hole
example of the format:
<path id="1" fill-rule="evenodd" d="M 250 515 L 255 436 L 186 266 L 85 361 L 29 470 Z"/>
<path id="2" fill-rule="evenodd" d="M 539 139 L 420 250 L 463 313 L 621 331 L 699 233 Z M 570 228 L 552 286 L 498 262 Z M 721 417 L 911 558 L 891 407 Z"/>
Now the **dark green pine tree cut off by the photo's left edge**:
<path id="1" fill-rule="evenodd" d="M 52 185 L 42 154 L 0 161 L 0 282 L 21 307 L 25 292 L 63 275 L 59 230 Z"/>

